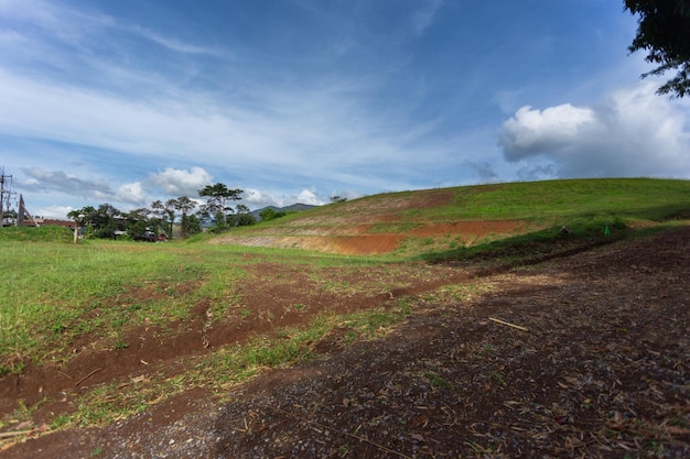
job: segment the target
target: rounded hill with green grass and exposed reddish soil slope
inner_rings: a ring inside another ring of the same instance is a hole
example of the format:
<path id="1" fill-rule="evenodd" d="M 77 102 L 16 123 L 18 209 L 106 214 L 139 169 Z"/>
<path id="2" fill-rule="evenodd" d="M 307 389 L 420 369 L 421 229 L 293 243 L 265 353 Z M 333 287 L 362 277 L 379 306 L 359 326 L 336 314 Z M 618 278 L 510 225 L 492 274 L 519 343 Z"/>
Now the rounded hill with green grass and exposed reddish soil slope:
<path id="1" fill-rule="evenodd" d="M 689 196 L 688 181 L 649 178 L 427 189 L 331 204 L 211 242 L 410 256 L 563 226 L 603 231 L 690 218 Z"/>

